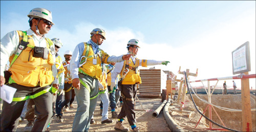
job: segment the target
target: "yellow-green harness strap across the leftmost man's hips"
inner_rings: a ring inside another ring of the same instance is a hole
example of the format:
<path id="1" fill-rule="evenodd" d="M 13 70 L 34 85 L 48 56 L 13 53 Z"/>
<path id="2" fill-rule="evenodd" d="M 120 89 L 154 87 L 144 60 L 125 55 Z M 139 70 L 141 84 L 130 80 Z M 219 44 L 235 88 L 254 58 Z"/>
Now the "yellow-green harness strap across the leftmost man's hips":
<path id="1" fill-rule="evenodd" d="M 40 91 L 40 92 L 38 92 L 38 93 L 36 93 L 34 95 L 28 95 L 28 96 L 25 96 L 25 97 L 13 98 L 12 101 L 19 102 L 19 101 L 25 101 L 27 99 L 34 99 L 34 98 L 36 98 L 36 97 L 38 97 L 40 95 L 43 95 L 43 94 L 45 94 L 47 92 L 50 92 L 50 91 L 52 93 L 57 93 L 58 92 L 57 89 L 55 89 L 54 87 L 51 86 L 51 87 L 49 87 L 49 88 L 47 88 L 45 90 L 42 90 L 42 91 Z"/>

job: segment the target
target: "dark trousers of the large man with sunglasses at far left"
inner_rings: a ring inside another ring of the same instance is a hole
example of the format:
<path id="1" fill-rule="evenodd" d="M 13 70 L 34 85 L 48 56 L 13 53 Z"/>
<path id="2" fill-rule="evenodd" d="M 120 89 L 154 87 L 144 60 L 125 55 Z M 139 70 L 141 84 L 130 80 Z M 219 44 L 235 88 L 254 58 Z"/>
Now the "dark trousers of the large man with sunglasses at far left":
<path id="1" fill-rule="evenodd" d="M 35 93 L 50 87 L 50 85 L 44 87 L 29 87 L 16 83 L 8 84 L 8 86 L 17 89 L 14 94 L 14 98 L 34 95 Z M 34 98 L 33 100 L 35 103 L 35 115 L 37 118 L 31 131 L 45 131 L 52 116 L 52 93 L 47 92 L 38 96 L 37 98 Z M 3 102 L 3 109 L 1 113 L 1 131 L 16 131 L 24 104 L 25 101 L 13 101 L 10 104 L 5 101 Z"/>

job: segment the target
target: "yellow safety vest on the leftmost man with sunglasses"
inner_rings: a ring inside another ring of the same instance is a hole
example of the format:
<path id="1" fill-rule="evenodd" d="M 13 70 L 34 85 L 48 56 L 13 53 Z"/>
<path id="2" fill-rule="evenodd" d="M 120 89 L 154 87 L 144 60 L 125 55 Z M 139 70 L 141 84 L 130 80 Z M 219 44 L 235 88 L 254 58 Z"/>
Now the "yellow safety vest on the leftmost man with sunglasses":
<path id="1" fill-rule="evenodd" d="M 19 40 L 23 39 L 23 32 L 17 31 L 19 34 Z M 51 53 L 50 43 L 53 43 L 50 39 L 47 39 L 48 59 L 42 59 L 33 57 L 33 48 L 35 43 L 31 35 L 28 35 L 28 47 L 20 53 L 19 57 L 12 64 L 9 69 L 12 75 L 9 79 L 9 83 L 17 83 L 24 86 L 36 86 L 40 82 L 40 86 L 50 85 L 54 77 L 52 75 L 52 65 L 54 64 L 53 56 Z M 48 41 L 51 41 L 50 43 Z M 10 56 L 9 61 L 13 60 L 14 54 Z"/>

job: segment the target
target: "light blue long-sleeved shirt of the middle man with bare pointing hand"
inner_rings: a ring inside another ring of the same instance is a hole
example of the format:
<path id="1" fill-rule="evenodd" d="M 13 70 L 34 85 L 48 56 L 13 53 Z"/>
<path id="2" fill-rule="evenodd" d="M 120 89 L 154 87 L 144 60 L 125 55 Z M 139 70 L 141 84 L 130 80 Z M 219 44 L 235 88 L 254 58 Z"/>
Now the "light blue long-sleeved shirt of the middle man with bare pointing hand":
<path id="1" fill-rule="evenodd" d="M 87 43 L 92 45 L 90 40 Z M 94 51 L 96 51 L 94 49 L 94 46 L 92 46 L 92 48 Z M 82 56 L 83 51 L 84 51 L 84 43 L 81 42 L 76 46 L 76 48 L 73 52 L 73 55 L 72 55 L 72 59 L 70 60 L 70 74 L 71 74 L 72 79 L 79 78 L 78 77 L 78 68 L 79 68 L 80 58 Z M 98 52 L 99 52 L 99 50 L 97 50 L 97 53 Z M 107 60 L 107 62 L 121 62 L 121 61 L 123 61 L 122 55 L 117 56 L 117 57 L 110 56 Z"/>

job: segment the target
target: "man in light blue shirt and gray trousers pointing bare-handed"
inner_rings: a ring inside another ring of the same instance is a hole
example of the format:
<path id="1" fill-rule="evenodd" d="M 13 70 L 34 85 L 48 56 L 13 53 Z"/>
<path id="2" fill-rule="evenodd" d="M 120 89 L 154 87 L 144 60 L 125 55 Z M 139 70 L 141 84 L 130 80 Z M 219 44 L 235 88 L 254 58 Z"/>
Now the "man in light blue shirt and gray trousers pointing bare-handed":
<path id="1" fill-rule="evenodd" d="M 102 77 L 102 63 L 121 62 L 131 55 L 109 56 L 99 49 L 105 38 L 105 31 L 99 28 L 91 32 L 88 42 L 79 43 L 70 62 L 72 84 L 75 87 L 77 111 L 72 131 L 88 131 L 90 120 L 97 103 L 99 81 Z M 91 100 L 90 100 L 91 98 Z"/>

